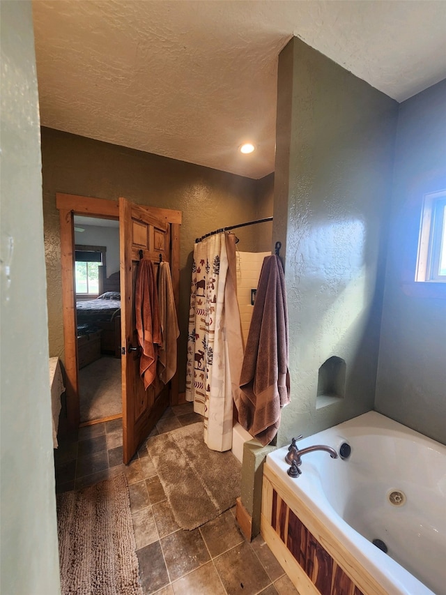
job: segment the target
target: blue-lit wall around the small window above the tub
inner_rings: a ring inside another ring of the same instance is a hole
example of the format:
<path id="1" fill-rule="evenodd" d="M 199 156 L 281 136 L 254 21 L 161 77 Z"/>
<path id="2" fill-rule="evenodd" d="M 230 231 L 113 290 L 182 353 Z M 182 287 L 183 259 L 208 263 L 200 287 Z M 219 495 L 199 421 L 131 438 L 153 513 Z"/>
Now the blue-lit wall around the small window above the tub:
<path id="1" fill-rule="evenodd" d="M 414 279 L 423 195 L 445 188 L 446 80 L 399 106 L 375 401 L 379 412 L 444 444 L 446 285 Z"/>

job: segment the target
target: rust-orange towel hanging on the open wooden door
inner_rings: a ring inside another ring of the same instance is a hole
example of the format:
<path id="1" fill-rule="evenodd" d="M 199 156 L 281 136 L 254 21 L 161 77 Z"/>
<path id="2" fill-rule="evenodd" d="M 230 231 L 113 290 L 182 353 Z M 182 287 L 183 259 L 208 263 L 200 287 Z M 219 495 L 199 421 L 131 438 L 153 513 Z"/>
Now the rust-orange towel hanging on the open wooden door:
<path id="1" fill-rule="evenodd" d="M 134 296 L 138 342 L 142 348 L 139 373 L 148 389 L 155 379 L 157 346 L 161 345 L 160 309 L 151 260 L 139 261 L 137 285 Z"/>

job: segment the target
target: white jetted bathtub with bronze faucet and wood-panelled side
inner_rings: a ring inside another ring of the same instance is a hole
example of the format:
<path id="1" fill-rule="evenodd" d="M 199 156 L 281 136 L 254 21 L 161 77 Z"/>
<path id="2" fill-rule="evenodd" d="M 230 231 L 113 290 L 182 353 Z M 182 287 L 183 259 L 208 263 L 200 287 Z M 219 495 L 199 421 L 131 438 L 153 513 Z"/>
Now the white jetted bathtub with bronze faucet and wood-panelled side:
<path id="1" fill-rule="evenodd" d="M 303 455 L 297 479 L 286 446 L 266 458 L 261 532 L 286 573 L 309 594 L 446 595 L 446 446 L 376 412 L 298 446 L 343 443 L 345 460 Z"/>

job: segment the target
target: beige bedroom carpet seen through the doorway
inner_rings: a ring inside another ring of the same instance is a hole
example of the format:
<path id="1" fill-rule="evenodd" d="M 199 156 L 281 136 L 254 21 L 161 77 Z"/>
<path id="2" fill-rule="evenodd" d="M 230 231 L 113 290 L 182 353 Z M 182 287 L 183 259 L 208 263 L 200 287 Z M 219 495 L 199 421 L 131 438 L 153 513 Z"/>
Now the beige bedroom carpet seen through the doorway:
<path id="1" fill-rule="evenodd" d="M 122 413 L 121 359 L 102 356 L 79 370 L 81 422 Z"/>

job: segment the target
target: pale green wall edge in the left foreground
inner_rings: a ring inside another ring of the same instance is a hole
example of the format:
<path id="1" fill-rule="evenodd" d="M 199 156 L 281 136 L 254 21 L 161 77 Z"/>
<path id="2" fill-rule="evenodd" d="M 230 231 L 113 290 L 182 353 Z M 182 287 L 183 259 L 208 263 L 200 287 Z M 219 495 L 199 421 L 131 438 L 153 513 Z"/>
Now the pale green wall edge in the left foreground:
<path id="1" fill-rule="evenodd" d="M 31 2 L 3 0 L 0 11 L 0 592 L 56 595 L 59 555 Z"/>

